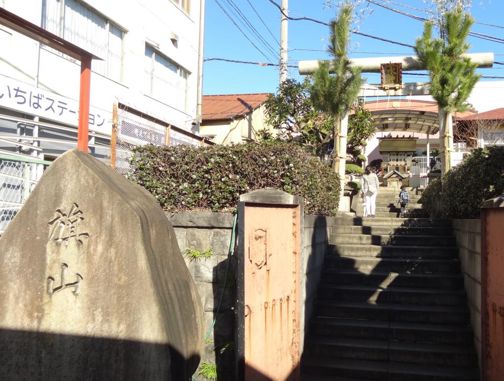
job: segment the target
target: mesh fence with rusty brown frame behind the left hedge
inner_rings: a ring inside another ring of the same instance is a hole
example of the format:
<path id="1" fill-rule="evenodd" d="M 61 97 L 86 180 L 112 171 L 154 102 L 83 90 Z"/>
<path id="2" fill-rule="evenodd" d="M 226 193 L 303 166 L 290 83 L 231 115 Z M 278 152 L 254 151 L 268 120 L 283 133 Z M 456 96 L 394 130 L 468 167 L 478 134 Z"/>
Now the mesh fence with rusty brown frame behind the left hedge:
<path id="1" fill-rule="evenodd" d="M 170 129 L 168 124 L 164 124 L 155 118 L 137 112 L 129 111 L 127 107 L 120 105 L 117 107 L 115 158 L 114 165 L 117 172 L 127 174 L 131 165 L 129 162 L 132 156 L 132 148 L 145 144 L 162 146 L 169 141 L 170 146 L 181 144 L 200 146 L 201 138 L 191 137 L 182 134 L 174 129 Z M 169 131 L 169 139 L 166 132 Z M 112 150 L 114 148 L 112 147 Z"/>

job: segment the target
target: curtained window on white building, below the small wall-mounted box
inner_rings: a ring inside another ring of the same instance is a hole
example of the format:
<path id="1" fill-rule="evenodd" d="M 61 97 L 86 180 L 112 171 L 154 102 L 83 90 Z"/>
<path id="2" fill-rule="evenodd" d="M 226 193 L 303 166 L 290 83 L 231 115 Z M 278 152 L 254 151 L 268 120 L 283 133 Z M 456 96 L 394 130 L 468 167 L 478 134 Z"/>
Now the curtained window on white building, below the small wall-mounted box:
<path id="1" fill-rule="evenodd" d="M 188 73 L 149 45 L 145 46 L 145 59 L 146 93 L 186 112 Z"/>

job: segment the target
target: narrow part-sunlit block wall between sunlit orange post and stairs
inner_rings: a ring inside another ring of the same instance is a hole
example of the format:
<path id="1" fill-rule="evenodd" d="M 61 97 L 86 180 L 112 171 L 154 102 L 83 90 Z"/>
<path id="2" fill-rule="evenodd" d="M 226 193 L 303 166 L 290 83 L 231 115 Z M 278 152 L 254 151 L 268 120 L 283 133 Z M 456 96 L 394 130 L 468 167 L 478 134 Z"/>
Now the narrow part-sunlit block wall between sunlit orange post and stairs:
<path id="1" fill-rule="evenodd" d="M 301 240 L 301 350 L 317 296 L 334 217 L 304 215 Z"/>

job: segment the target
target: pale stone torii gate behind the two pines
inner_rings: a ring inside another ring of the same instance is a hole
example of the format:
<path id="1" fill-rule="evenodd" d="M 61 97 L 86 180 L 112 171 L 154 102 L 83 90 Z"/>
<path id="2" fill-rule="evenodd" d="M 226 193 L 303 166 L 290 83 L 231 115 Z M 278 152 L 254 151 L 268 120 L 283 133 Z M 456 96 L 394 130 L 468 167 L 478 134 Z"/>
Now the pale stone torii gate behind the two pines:
<path id="1" fill-rule="evenodd" d="M 493 53 L 472 53 L 464 54 L 477 63 L 478 68 L 491 68 L 493 66 Z M 332 60 L 326 62 L 331 65 Z M 392 63 L 394 62 L 394 63 Z M 350 60 L 350 65 L 360 67 L 363 73 L 381 73 L 383 65 L 400 65 L 401 70 L 422 71 L 426 70 L 417 56 L 398 56 L 398 57 L 369 57 L 369 58 L 354 58 Z M 299 74 L 308 75 L 318 68 L 319 60 L 299 61 Z M 330 70 L 331 72 L 331 70 Z M 402 82 L 402 81 L 401 81 Z M 428 83 L 400 83 L 393 85 L 371 84 L 374 89 L 362 89 L 359 97 L 389 97 L 389 96 L 412 96 L 412 95 L 429 95 Z M 445 126 L 445 128 L 443 128 Z M 453 151 L 453 120 L 447 120 L 440 126 L 440 155 L 443 157 Z M 337 132 L 339 138 L 339 149 L 335 154 L 339 157 L 338 173 L 342 181 L 341 192 L 343 194 L 343 184 L 345 178 L 346 164 L 346 145 L 348 134 L 348 115 L 345 115 L 340 123 L 340 131 Z M 448 170 L 449 168 L 444 168 Z"/>

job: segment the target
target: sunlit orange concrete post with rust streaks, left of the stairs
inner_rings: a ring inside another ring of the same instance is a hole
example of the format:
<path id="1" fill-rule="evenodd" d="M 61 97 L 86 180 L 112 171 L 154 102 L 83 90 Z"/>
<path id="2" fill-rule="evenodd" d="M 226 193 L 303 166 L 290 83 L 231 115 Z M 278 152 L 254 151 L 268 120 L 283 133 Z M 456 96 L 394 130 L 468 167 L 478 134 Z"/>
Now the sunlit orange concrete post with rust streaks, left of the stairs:
<path id="1" fill-rule="evenodd" d="M 300 379 L 302 216 L 303 199 L 281 190 L 240 197 L 236 379 Z"/>

